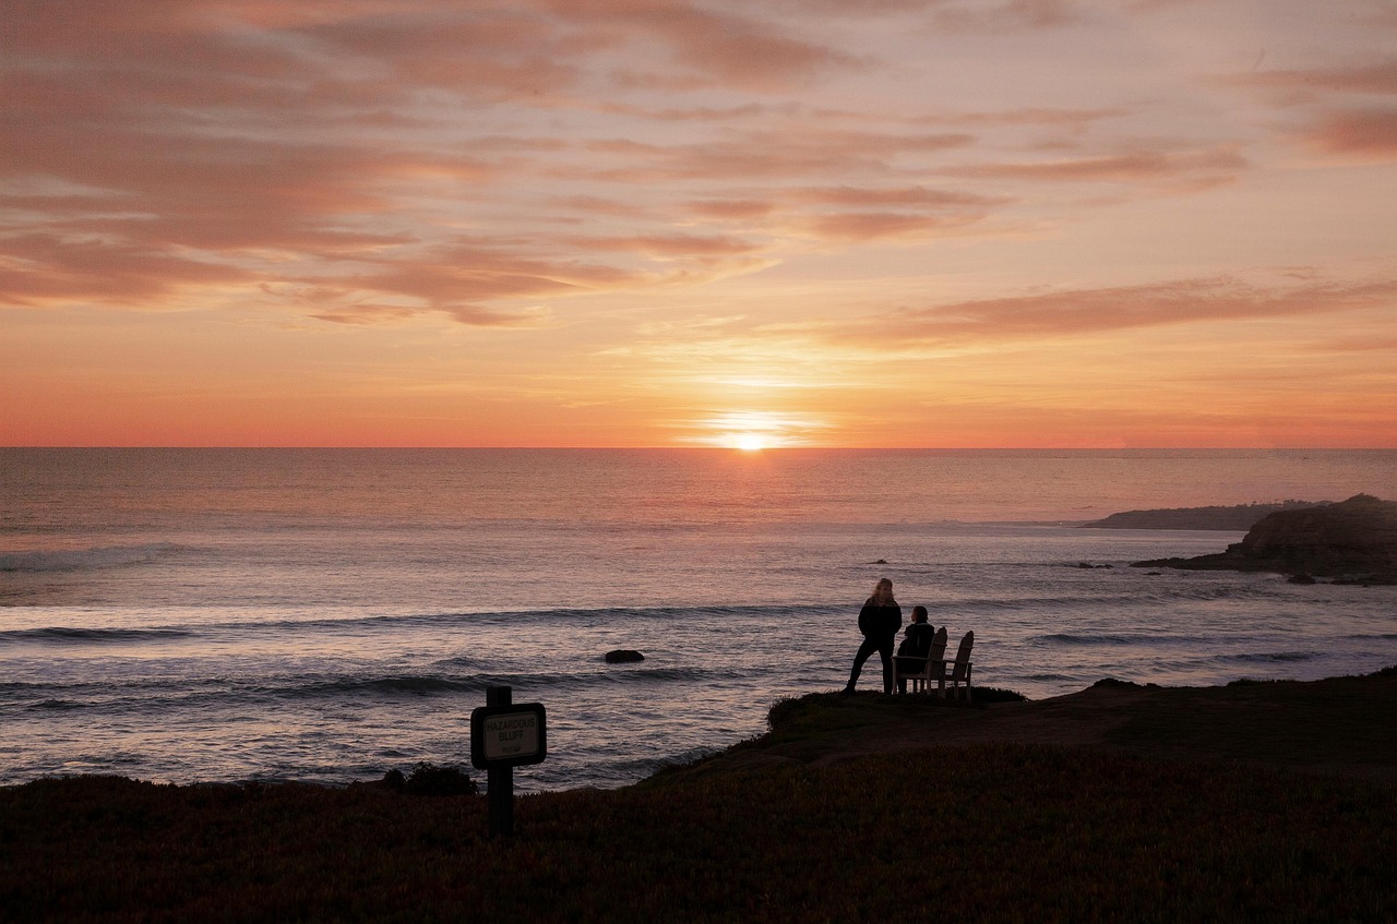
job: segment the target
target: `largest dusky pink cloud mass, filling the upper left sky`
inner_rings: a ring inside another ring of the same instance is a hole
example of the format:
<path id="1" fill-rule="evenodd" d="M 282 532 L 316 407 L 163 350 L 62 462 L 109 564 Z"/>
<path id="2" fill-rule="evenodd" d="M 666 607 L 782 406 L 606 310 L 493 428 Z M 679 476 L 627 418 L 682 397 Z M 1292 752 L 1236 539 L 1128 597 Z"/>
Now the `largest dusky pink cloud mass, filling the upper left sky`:
<path id="1" fill-rule="evenodd" d="M 458 128 L 469 123 L 462 113 L 500 102 L 595 110 L 588 94 L 637 47 L 641 71 L 678 63 L 698 85 L 736 89 L 861 66 L 753 10 L 682 0 L 53 0 L 21 4 L 7 25 L 14 66 L 0 77 L 0 200 L 21 216 L 0 223 L 7 304 L 158 307 L 189 288 L 268 278 L 288 290 L 324 285 L 337 301 L 310 307 L 337 321 L 436 310 L 495 324 L 500 315 L 481 307 L 490 300 L 634 285 L 664 278 L 673 261 L 743 267 L 757 248 L 722 234 L 673 234 L 664 205 L 560 193 L 534 214 L 535 228 L 597 216 L 629 228 L 472 246 L 450 262 L 439 254 L 458 229 L 420 218 L 443 190 L 462 211 L 481 202 L 503 212 L 518 195 L 511 184 L 529 176 L 555 179 L 559 190 L 590 177 L 726 188 L 743 177 L 876 170 L 880 156 L 970 142 L 768 128 L 719 142 L 617 141 L 588 151 L 511 128 L 450 145 L 433 137 L 436 119 Z M 443 114 L 441 100 L 464 109 Z M 757 103 L 673 109 L 659 121 L 764 112 Z M 655 121 L 641 110 L 631 117 Z M 577 169 L 590 152 L 616 155 L 616 166 Z M 35 181 L 67 191 L 32 195 L 25 188 Z M 404 215 L 405 202 L 415 215 Z M 578 255 L 559 260 L 566 247 Z M 620 269 L 608 255 L 665 265 Z"/>

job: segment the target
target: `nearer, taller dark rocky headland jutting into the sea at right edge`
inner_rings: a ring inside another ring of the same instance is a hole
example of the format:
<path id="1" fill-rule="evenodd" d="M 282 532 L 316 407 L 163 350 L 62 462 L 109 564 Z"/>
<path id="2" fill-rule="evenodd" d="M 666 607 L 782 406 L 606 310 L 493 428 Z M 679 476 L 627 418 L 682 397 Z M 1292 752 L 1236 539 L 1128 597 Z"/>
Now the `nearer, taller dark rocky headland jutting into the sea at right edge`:
<path id="1" fill-rule="evenodd" d="M 1261 518 L 1227 551 L 1136 561 L 1132 567 L 1274 571 L 1397 583 L 1397 502 L 1356 494 L 1341 504 L 1282 509 Z"/>

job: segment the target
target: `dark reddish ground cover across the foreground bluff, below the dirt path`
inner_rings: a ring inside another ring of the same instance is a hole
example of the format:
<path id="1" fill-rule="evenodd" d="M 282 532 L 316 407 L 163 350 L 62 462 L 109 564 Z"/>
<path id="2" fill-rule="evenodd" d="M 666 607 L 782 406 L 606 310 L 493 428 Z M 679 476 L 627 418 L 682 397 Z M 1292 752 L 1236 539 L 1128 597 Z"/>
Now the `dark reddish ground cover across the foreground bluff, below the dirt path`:
<path id="1" fill-rule="evenodd" d="M 877 699 L 778 713 L 814 740 L 905 709 Z M 1397 786 L 1207 759 L 915 748 L 528 796 L 515 822 L 489 840 L 472 796 L 39 780 L 0 790 L 0 918 L 1397 917 Z"/>

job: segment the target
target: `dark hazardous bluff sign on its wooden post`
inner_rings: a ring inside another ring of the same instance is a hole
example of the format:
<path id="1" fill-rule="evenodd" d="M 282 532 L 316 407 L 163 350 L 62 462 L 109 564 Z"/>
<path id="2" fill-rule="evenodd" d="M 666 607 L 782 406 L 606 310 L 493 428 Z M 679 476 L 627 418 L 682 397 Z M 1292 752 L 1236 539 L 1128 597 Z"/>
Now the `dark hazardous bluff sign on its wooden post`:
<path id="1" fill-rule="evenodd" d="M 486 687 L 485 705 L 471 710 L 471 763 L 486 772 L 492 837 L 514 836 L 514 768 L 548 757 L 543 705 L 513 699 L 509 687 Z"/>

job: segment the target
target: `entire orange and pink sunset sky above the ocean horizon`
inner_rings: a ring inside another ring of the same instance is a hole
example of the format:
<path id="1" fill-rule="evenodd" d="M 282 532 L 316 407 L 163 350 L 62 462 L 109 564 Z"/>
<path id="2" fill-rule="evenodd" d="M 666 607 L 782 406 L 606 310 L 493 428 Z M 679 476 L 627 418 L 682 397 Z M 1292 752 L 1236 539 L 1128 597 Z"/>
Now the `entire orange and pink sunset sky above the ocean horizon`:
<path id="1" fill-rule="evenodd" d="M 1397 1 L 0 0 L 0 444 L 1397 447 Z"/>

